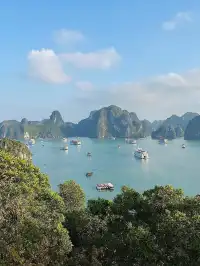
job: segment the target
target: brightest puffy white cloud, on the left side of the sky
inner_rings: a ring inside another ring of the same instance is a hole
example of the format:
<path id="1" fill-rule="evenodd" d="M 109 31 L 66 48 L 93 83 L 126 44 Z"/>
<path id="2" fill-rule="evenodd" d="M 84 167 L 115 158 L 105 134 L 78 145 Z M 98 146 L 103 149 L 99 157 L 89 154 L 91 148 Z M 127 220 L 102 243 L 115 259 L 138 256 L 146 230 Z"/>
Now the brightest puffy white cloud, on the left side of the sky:
<path id="1" fill-rule="evenodd" d="M 49 83 L 66 83 L 71 79 L 51 49 L 32 50 L 28 54 L 29 75 Z"/>

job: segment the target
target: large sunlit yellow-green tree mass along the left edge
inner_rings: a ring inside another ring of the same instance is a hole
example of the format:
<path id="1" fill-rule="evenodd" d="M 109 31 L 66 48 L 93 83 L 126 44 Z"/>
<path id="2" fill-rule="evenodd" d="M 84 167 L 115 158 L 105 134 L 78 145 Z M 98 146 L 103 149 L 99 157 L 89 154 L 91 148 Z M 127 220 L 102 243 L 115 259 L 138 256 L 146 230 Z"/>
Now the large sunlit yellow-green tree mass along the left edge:
<path id="1" fill-rule="evenodd" d="M 63 213 L 48 177 L 0 150 L 0 265 L 66 265 L 72 244 Z"/>

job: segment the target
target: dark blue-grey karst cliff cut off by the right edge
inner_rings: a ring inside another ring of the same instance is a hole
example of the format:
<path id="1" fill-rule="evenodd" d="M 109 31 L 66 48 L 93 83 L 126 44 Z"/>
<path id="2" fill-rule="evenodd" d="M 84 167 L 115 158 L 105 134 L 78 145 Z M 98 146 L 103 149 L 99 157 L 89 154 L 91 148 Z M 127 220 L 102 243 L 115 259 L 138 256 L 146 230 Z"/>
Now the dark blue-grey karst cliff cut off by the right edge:
<path id="1" fill-rule="evenodd" d="M 200 116 L 196 116 L 189 122 L 185 130 L 184 139 L 200 140 Z"/>

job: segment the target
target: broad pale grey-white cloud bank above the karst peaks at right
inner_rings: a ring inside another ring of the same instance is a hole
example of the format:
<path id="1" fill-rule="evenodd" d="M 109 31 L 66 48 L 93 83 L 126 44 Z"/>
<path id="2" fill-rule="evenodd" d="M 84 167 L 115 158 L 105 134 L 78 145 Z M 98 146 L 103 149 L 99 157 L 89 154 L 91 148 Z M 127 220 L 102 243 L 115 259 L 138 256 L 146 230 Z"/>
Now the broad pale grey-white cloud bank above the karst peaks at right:
<path id="1" fill-rule="evenodd" d="M 90 109 L 116 104 L 139 117 L 163 119 L 171 114 L 200 112 L 200 69 L 169 73 L 141 82 L 126 82 L 79 93 L 77 100 Z"/>

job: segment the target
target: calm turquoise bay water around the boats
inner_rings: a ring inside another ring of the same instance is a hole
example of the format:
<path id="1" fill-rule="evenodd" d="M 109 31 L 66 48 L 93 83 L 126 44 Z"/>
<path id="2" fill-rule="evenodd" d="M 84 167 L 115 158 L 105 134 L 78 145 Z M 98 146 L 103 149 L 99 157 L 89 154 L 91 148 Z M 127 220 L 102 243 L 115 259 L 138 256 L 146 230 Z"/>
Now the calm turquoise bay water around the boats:
<path id="1" fill-rule="evenodd" d="M 40 141 L 31 148 L 34 163 L 47 173 L 54 190 L 58 184 L 73 179 L 84 189 L 87 199 L 113 198 L 123 185 L 144 191 L 157 185 L 171 184 L 182 188 L 187 195 L 200 193 L 200 142 L 177 139 L 167 145 L 156 140 L 142 139 L 139 147 L 149 152 L 148 161 L 133 156 L 135 146 L 124 140 L 82 139 L 81 146 L 69 145 L 69 151 L 61 151 L 63 141 Z M 182 149 L 182 143 L 186 149 Z M 118 148 L 118 144 L 121 148 Z M 92 153 L 92 158 L 86 156 Z M 87 178 L 86 172 L 93 171 Z M 98 192 L 96 184 L 111 182 L 113 192 Z"/>

